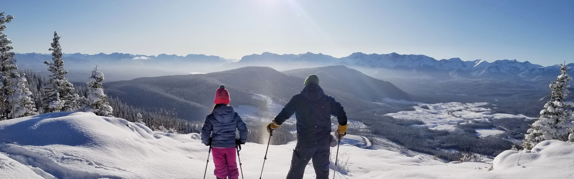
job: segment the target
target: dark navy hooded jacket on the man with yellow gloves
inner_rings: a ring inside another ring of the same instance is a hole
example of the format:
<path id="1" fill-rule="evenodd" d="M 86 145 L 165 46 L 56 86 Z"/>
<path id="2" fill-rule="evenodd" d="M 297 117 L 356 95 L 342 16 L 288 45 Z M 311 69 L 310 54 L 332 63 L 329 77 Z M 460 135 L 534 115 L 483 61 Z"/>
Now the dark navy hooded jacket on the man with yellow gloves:
<path id="1" fill-rule="evenodd" d="M 347 124 L 347 115 L 335 98 L 325 95 L 317 84 L 308 84 L 300 94 L 291 98 L 283 110 L 275 117 L 282 124 L 293 113 L 297 118 L 297 146 L 325 145 L 331 138 L 331 115 L 339 124 Z M 326 146 L 327 146 L 326 145 Z"/>

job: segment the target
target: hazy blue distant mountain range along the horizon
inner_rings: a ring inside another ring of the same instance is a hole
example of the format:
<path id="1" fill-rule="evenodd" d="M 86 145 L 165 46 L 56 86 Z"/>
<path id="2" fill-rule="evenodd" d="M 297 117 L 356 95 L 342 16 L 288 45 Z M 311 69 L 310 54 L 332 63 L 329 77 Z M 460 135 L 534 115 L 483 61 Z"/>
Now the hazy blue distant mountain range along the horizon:
<path id="1" fill-rule="evenodd" d="M 17 53 L 15 59 L 21 69 L 42 71 L 43 64 L 52 56 L 41 53 Z M 548 80 L 557 76 L 557 65 L 542 67 L 529 61 L 497 60 L 492 63 L 484 60 L 463 61 L 459 58 L 436 60 L 425 55 L 400 55 L 352 53 L 347 57 L 336 58 L 322 53 L 311 52 L 298 55 L 264 52 L 261 55 L 243 56 L 239 61 L 224 59 L 219 56 L 207 55 L 166 55 L 158 56 L 131 55 L 129 53 L 98 53 L 86 55 L 68 53 L 63 57 L 69 71 L 90 70 L 96 65 L 122 71 L 113 74 L 113 80 L 129 80 L 135 77 L 151 77 L 162 75 L 183 75 L 188 72 L 216 72 L 247 66 L 272 67 L 278 71 L 299 68 L 315 68 L 328 65 L 344 65 L 355 68 L 367 75 L 377 77 L 430 77 L 433 79 L 518 79 L 518 80 Z M 574 67 L 574 63 L 568 64 Z M 146 71 L 148 74 L 132 75 Z M 80 80 L 82 81 L 82 80 Z"/>

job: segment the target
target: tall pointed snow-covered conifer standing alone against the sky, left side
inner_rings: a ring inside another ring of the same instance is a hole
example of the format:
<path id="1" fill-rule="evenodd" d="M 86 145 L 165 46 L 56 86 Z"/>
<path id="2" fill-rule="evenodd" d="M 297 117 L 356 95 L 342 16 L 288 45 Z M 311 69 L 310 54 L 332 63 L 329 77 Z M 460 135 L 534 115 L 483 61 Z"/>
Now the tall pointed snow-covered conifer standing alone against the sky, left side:
<path id="1" fill-rule="evenodd" d="M 57 32 L 54 32 L 51 45 L 52 48 L 48 50 L 52 51 L 53 63 L 44 61 L 48 65 L 48 71 L 52 72 L 48 84 L 44 86 L 44 112 L 72 111 L 75 107 L 76 98 L 72 83 L 69 83 L 65 77 L 68 71 L 64 70 L 60 36 Z"/>

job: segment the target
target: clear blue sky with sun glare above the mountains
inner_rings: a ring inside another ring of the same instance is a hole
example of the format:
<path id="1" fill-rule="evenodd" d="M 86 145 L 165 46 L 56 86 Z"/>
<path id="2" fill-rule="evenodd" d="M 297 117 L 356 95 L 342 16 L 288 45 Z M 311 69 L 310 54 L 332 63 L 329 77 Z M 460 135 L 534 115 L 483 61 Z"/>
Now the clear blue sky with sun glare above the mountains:
<path id="1" fill-rule="evenodd" d="M 574 62 L 574 1 L 6 1 L 14 52 Z"/>

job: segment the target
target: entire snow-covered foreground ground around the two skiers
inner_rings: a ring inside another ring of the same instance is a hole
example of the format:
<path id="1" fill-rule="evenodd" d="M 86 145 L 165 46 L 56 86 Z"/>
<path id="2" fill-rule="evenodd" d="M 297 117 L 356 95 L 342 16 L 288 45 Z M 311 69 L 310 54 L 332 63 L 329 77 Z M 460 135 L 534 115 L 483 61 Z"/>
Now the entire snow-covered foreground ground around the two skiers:
<path id="1" fill-rule="evenodd" d="M 203 178 L 208 147 L 197 134 L 169 134 L 90 112 L 56 112 L 0 121 L 0 176 L 5 178 Z M 245 178 L 258 178 L 265 146 L 241 151 Z M 294 142 L 270 146 L 263 178 L 285 178 Z M 334 156 L 334 150 L 332 151 Z M 574 145 L 545 141 L 505 151 L 491 164 L 444 164 L 422 155 L 340 147 L 336 178 L 568 178 Z M 520 161 L 518 162 L 518 159 Z M 520 165 L 517 165 L 520 164 Z M 207 178 L 214 178 L 210 159 Z M 331 171 L 333 172 L 333 171 Z M 311 164 L 305 178 L 315 178 Z"/>

